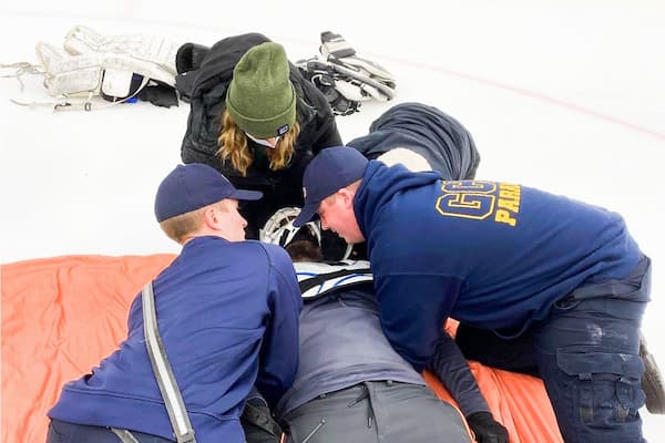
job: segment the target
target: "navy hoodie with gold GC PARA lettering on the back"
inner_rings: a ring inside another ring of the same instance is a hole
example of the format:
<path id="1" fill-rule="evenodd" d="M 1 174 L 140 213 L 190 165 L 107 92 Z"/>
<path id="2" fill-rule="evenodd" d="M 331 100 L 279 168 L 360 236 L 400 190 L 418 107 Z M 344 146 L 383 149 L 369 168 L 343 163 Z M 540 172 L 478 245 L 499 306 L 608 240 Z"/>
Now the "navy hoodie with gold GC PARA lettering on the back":
<path id="1" fill-rule="evenodd" d="M 641 257 L 620 215 L 520 185 L 443 182 L 370 161 L 354 207 L 383 330 L 418 370 L 449 316 L 516 336 L 573 289 L 625 277 Z"/>

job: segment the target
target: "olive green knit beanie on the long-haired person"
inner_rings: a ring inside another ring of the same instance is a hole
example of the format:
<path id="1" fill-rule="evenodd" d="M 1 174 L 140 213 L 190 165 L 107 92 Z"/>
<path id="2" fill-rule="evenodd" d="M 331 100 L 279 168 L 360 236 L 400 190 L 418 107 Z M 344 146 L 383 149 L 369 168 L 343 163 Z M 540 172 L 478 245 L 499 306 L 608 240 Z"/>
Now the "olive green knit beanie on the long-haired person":
<path id="1" fill-rule="evenodd" d="M 296 122 L 296 93 L 280 44 L 266 42 L 243 55 L 233 70 L 226 109 L 241 130 L 257 138 L 285 134 Z"/>

